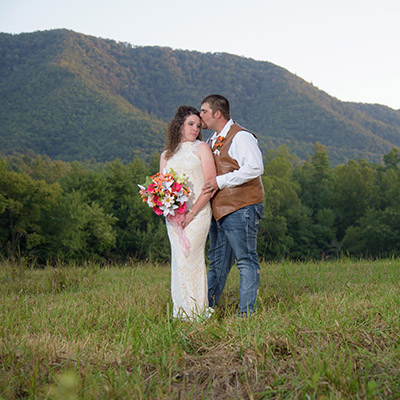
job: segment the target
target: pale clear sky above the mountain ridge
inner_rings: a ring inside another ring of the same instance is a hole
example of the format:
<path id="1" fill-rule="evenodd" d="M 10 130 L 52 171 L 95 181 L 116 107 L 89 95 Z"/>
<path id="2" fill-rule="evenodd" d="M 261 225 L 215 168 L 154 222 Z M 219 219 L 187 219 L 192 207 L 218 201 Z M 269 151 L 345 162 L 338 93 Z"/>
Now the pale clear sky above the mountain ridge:
<path id="1" fill-rule="evenodd" d="M 65 28 L 268 61 L 342 101 L 400 109 L 399 0 L 0 0 L 0 32 Z"/>

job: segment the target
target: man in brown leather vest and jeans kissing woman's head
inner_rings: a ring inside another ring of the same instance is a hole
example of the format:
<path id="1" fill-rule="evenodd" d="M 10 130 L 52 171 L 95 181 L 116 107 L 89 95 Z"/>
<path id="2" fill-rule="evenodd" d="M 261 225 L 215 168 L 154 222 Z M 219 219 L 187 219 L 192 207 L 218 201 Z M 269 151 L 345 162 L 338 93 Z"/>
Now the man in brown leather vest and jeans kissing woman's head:
<path id="1" fill-rule="evenodd" d="M 260 283 L 257 231 L 264 216 L 262 154 L 256 136 L 232 121 L 225 97 L 207 96 L 200 115 L 202 128 L 215 131 L 208 142 L 217 169 L 217 177 L 206 181 L 203 187 L 203 191 L 214 195 L 208 300 L 210 307 L 218 305 L 236 260 L 240 272 L 239 315 L 249 316 L 257 309 Z"/>

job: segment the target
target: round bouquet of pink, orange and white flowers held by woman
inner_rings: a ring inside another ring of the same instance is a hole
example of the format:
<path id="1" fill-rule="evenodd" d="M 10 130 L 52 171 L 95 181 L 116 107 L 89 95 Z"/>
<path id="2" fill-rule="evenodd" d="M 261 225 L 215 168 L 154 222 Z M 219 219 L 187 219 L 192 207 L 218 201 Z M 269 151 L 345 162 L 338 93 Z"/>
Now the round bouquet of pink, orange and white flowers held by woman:
<path id="1" fill-rule="evenodd" d="M 185 174 L 178 176 L 173 169 L 166 174 L 158 172 L 138 186 L 143 203 L 152 207 L 157 215 L 175 216 L 176 212 L 184 214 L 186 211 L 190 189 Z"/>

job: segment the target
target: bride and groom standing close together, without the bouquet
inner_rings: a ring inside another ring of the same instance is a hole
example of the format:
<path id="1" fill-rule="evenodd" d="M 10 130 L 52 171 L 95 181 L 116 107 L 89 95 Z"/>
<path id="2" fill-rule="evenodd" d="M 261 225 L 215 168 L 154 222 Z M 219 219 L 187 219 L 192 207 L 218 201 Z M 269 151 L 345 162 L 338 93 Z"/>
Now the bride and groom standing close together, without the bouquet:
<path id="1" fill-rule="evenodd" d="M 207 143 L 201 140 L 202 128 L 214 131 Z M 167 217 L 173 317 L 209 317 L 235 261 L 240 272 L 238 313 L 249 316 L 257 309 L 257 231 L 264 215 L 264 168 L 257 138 L 232 121 L 228 100 L 214 94 L 202 101 L 200 112 L 178 108 L 168 125 L 165 148 L 160 172 L 185 174 L 191 189 L 182 221 L 188 251 Z"/>

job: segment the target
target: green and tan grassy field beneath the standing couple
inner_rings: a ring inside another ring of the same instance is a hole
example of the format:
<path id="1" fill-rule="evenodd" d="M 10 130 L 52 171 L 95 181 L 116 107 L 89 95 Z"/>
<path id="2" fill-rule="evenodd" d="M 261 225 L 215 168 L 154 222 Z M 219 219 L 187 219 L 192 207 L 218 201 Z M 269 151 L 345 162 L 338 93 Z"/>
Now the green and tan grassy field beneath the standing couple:
<path id="1" fill-rule="evenodd" d="M 0 264 L 0 399 L 399 399 L 400 260 L 263 264 L 236 317 L 171 319 L 169 268 Z"/>

